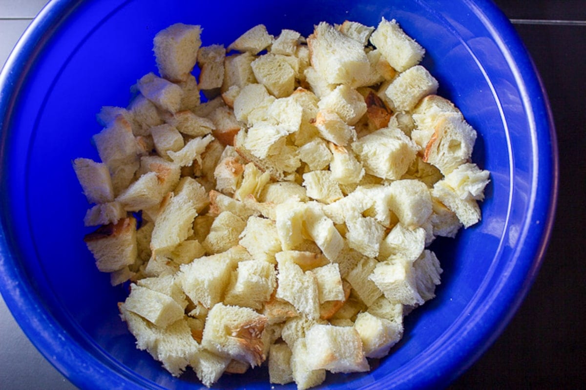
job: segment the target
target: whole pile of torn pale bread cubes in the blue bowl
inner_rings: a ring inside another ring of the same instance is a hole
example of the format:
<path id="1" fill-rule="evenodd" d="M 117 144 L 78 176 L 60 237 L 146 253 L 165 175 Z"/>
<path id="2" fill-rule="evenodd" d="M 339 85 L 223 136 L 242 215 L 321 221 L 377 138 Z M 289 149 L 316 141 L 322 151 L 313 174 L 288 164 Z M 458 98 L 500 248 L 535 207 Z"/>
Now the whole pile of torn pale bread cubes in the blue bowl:
<path id="1" fill-rule="evenodd" d="M 87 247 L 130 285 L 122 320 L 206 386 L 259 365 L 299 389 L 367 371 L 435 295 L 428 246 L 481 218 L 476 132 L 396 20 L 257 25 L 227 48 L 201 32 L 156 34 L 159 75 L 98 113 L 101 161 L 73 162 Z"/>

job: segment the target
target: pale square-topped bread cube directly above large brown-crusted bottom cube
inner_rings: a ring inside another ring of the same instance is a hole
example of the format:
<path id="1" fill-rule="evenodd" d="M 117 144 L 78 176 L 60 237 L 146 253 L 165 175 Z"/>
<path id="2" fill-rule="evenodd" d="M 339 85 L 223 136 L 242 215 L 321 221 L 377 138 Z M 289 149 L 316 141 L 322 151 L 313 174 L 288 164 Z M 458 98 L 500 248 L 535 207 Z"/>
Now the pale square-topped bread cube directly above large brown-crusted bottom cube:
<path id="1" fill-rule="evenodd" d="M 263 308 L 277 283 L 274 265 L 264 260 L 240 261 L 232 272 L 224 304 L 252 309 Z"/>

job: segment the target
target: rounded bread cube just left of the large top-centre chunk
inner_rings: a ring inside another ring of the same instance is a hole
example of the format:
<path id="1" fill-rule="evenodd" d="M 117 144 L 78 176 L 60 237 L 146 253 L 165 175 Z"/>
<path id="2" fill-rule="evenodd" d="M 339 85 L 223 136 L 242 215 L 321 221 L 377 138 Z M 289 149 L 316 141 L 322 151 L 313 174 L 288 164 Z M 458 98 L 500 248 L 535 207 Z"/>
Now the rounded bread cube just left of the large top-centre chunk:
<path id="1" fill-rule="evenodd" d="M 287 57 L 281 54 L 267 53 L 254 60 L 250 66 L 258 82 L 267 87 L 277 98 L 284 98 L 293 93 L 295 88 L 295 70 Z"/>

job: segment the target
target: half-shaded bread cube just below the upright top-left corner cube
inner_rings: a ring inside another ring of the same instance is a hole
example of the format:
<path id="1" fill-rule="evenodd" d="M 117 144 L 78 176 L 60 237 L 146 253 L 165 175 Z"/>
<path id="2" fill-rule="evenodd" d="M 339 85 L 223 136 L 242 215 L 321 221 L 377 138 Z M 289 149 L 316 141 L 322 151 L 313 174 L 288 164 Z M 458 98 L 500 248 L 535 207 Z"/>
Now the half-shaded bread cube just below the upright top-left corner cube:
<path id="1" fill-rule="evenodd" d="M 142 76 L 137 85 L 141 94 L 158 108 L 171 113 L 178 112 L 181 109 L 184 92 L 179 85 L 157 77 L 154 73 Z"/>

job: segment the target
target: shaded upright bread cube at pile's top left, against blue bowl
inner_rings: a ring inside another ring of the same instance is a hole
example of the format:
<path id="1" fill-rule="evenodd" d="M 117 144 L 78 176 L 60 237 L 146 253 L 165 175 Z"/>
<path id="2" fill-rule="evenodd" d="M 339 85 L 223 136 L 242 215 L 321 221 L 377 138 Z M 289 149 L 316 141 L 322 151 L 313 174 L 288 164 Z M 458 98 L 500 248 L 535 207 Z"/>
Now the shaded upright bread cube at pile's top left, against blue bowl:
<path id="1" fill-rule="evenodd" d="M 170 81 L 183 81 L 193 70 L 202 44 L 201 26 L 175 23 L 156 33 L 153 40 L 159 74 Z"/>

